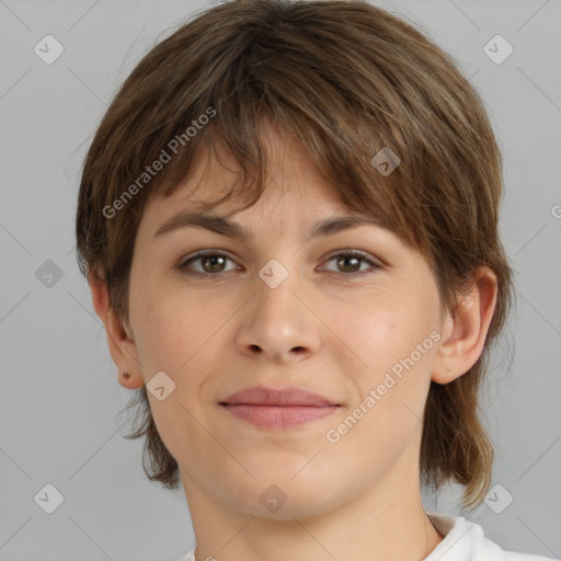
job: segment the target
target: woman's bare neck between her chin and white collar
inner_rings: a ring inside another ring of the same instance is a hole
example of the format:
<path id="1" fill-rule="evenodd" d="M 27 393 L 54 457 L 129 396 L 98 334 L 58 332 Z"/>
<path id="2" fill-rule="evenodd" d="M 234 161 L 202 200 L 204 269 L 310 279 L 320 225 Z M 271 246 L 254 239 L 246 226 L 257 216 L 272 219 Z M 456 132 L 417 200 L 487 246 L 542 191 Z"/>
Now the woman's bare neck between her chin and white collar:
<path id="1" fill-rule="evenodd" d="M 182 473 L 197 543 L 196 561 L 421 561 L 443 538 L 423 508 L 419 477 L 411 478 L 411 467 L 416 463 L 403 461 L 400 466 L 367 493 L 358 493 L 330 512 L 299 516 L 293 507 L 278 511 L 284 512 L 283 519 L 225 505 Z"/>

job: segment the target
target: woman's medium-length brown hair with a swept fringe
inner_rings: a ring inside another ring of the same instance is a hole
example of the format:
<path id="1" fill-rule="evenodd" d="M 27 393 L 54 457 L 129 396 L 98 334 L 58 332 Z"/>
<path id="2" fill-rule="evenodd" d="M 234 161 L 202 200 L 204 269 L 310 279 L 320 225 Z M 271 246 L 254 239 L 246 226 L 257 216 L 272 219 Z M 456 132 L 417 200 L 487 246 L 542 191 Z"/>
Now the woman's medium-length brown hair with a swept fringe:
<path id="1" fill-rule="evenodd" d="M 214 204 L 243 193 L 241 208 L 253 205 L 267 170 L 265 119 L 302 142 L 339 201 L 381 217 L 426 257 L 453 314 L 476 267 L 495 273 L 483 352 L 463 376 L 431 382 L 421 444 L 423 483 L 438 490 L 454 480 L 466 485 L 463 505 L 479 505 L 493 463 L 479 390 L 514 296 L 497 233 L 502 158 L 478 93 L 413 24 L 362 0 L 233 0 L 182 24 L 123 83 L 87 154 L 76 225 L 82 274 L 105 278 L 111 306 L 128 325 L 144 208 L 175 191 L 202 146 L 233 157 L 242 178 Z M 383 148 L 400 160 L 389 174 L 373 164 Z M 145 181 L 164 152 L 169 162 Z M 145 387 L 135 405 L 141 423 L 128 437 L 146 437 L 145 472 L 176 489 L 178 462 Z"/>

